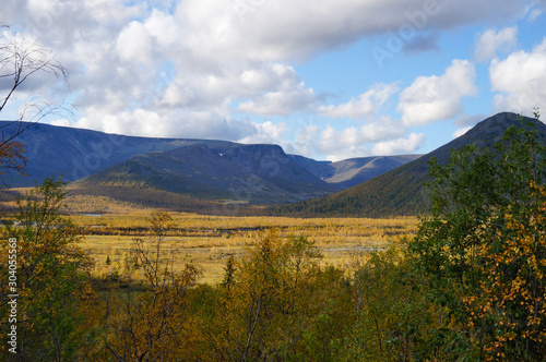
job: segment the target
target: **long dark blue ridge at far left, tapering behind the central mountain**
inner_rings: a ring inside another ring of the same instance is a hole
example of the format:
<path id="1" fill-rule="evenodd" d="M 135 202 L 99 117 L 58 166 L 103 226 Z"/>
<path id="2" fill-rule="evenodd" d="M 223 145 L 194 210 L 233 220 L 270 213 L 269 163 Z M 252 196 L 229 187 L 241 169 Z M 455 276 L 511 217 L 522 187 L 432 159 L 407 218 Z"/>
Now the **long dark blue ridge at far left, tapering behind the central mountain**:
<path id="1" fill-rule="evenodd" d="M 9 122 L 0 122 L 0 129 L 5 134 L 10 133 L 12 126 Z M 63 173 L 66 181 L 74 181 L 132 156 L 151 152 L 165 152 L 193 144 L 232 144 L 225 141 L 134 137 L 40 123 L 28 128 L 15 140 L 25 146 L 28 176 L 2 176 L 8 186 L 32 186 L 51 173 Z"/>

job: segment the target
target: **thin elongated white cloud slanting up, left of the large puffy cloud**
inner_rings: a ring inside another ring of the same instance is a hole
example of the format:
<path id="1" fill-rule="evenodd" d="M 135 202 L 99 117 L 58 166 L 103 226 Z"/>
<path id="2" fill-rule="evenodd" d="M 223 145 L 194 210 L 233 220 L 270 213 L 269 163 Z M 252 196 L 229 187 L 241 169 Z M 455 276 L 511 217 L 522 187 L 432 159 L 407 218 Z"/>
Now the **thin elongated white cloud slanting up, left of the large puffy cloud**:
<path id="1" fill-rule="evenodd" d="M 379 107 L 397 89 L 395 84 L 376 84 L 358 99 L 352 98 L 348 102 L 339 106 L 320 106 L 318 113 L 328 118 L 363 119 L 377 113 Z"/>

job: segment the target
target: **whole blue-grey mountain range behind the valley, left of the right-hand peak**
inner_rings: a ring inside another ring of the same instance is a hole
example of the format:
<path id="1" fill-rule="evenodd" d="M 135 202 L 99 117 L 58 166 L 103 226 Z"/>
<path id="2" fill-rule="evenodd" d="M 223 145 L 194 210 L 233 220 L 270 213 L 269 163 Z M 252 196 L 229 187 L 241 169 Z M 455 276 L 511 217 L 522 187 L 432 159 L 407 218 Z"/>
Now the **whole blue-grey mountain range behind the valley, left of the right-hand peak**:
<path id="1" fill-rule="evenodd" d="M 76 181 L 81 193 L 122 194 L 128 201 L 145 189 L 143 194 L 157 191 L 193 200 L 297 202 L 332 194 L 417 157 L 316 161 L 286 155 L 277 145 L 132 137 L 48 124 L 33 125 L 17 141 L 25 146 L 29 176 L 9 173 L 3 177 L 8 186 L 29 186 L 62 173 L 66 181 Z"/>

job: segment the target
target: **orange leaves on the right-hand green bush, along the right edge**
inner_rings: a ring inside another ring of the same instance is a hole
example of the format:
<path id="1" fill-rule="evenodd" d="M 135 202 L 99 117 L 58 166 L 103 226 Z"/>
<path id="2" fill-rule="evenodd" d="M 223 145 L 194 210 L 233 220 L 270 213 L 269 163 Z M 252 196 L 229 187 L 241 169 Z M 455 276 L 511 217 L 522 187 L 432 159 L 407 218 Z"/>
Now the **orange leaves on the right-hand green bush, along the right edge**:
<path id="1" fill-rule="evenodd" d="M 531 189 L 544 197 L 543 186 L 532 181 Z M 488 245 L 478 251 L 483 262 L 478 270 L 487 282 L 478 285 L 478 295 L 464 298 L 463 302 L 471 315 L 470 328 L 492 323 L 496 338 L 485 335 L 483 341 L 489 357 L 502 355 L 518 341 L 539 346 L 546 340 L 546 231 L 539 222 L 544 212 L 541 206 L 529 213 L 527 219 L 506 213 L 508 233 L 498 241 L 502 248 L 494 250 Z"/>

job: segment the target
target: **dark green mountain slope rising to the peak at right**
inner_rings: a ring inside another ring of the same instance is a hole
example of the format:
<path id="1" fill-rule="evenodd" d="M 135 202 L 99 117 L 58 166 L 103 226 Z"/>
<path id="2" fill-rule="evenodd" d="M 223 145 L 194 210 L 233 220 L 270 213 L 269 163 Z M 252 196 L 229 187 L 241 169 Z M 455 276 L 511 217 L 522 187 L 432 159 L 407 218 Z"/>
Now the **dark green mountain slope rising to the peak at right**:
<path id="1" fill-rule="evenodd" d="M 538 132 L 546 140 L 546 125 L 535 119 L 525 121 L 536 123 Z M 321 215 L 321 216 L 366 216 L 387 217 L 419 215 L 428 212 L 429 201 L 424 182 L 428 178 L 428 161 L 436 157 L 440 165 L 449 160 L 451 149 L 459 149 L 467 144 L 478 147 L 491 146 L 502 138 L 505 131 L 519 123 L 519 116 L 503 112 L 492 116 L 464 135 L 442 147 L 397 167 L 354 188 L 325 197 L 309 200 L 292 205 L 282 205 L 269 209 L 275 215 Z"/>

